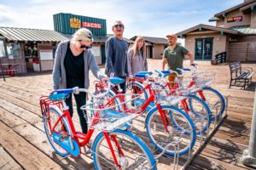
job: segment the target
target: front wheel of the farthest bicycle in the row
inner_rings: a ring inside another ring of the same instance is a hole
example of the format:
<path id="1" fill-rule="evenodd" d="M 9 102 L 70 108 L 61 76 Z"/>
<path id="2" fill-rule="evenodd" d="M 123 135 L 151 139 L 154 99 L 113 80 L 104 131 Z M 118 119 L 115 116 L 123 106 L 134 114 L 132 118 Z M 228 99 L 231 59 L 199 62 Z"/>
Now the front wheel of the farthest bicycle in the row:
<path id="1" fill-rule="evenodd" d="M 200 90 L 197 95 L 207 102 L 212 114 L 217 114 L 217 118 L 219 118 L 219 116 L 221 116 L 226 110 L 224 96 L 220 94 L 218 90 L 206 87 Z"/>

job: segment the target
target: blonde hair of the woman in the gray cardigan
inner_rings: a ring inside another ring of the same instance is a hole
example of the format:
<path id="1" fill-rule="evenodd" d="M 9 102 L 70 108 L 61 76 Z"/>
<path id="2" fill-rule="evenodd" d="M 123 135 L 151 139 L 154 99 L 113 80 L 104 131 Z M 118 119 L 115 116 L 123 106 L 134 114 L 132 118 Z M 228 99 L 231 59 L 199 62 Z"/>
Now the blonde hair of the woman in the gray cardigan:
<path id="1" fill-rule="evenodd" d="M 90 30 L 88 30 L 87 28 L 80 28 L 73 34 L 72 40 L 93 42 L 93 37 Z"/>

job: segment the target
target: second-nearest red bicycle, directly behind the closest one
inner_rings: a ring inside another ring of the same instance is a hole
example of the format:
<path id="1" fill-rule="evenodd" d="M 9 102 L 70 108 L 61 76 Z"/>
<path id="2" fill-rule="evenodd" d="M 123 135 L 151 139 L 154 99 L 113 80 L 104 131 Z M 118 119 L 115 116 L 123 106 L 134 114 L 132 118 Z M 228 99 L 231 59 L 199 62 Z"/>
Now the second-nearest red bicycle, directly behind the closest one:
<path id="1" fill-rule="evenodd" d="M 123 82 L 125 82 L 125 80 L 123 80 Z M 130 82 L 128 82 L 128 86 L 129 83 Z M 102 83 L 96 82 L 96 94 L 106 92 L 107 89 L 105 86 L 106 85 Z M 117 109 L 126 112 L 126 99 L 123 98 L 124 95 L 122 95 L 119 86 L 116 89 L 118 89 L 117 92 L 110 91 L 108 93 L 105 105 L 113 107 L 119 105 Z M 126 93 L 125 96 L 133 101 L 131 105 L 137 111 L 137 114 L 142 115 L 148 112 L 145 127 L 151 143 L 153 143 L 158 150 L 170 156 L 177 156 L 177 154 L 181 156 L 188 153 L 195 145 L 196 138 L 195 125 L 192 120 L 180 109 L 172 105 L 164 104 L 165 101 L 162 100 L 159 93 L 160 91 L 154 88 L 154 81 L 152 81 L 152 83 L 148 82 L 146 87 L 141 86 L 140 89 L 141 90 L 137 91 L 137 93 Z M 149 91 L 147 99 L 143 98 L 144 91 Z M 179 100 L 180 98 L 180 96 L 176 96 L 176 98 L 172 99 Z M 175 150 L 175 147 L 169 147 L 170 144 L 173 145 L 174 143 L 179 144 L 178 150 Z"/>

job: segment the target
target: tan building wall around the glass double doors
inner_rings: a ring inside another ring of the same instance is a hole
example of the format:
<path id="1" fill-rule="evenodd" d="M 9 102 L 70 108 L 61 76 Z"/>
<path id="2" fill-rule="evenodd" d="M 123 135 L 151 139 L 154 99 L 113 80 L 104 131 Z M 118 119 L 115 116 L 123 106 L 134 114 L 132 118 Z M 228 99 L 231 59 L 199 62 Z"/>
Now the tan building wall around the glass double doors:
<path id="1" fill-rule="evenodd" d="M 207 37 L 213 37 L 212 59 L 214 59 L 215 54 L 222 53 L 227 50 L 227 37 L 222 36 L 219 33 L 187 35 L 185 38 L 185 48 L 187 48 L 193 55 L 195 55 L 195 38 Z"/>

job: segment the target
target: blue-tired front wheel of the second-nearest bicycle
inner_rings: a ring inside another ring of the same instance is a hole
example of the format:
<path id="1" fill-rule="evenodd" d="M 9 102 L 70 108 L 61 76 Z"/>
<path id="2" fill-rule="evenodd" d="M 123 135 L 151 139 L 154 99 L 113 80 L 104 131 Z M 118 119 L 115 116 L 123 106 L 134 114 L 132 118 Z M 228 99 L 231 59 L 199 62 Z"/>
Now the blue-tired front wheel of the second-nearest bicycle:
<path id="1" fill-rule="evenodd" d="M 158 150 L 163 151 L 167 144 L 174 144 L 180 141 L 178 150 L 175 151 L 175 148 L 170 146 L 165 153 L 169 156 L 176 156 L 177 153 L 179 156 L 182 156 L 188 153 L 195 145 L 196 135 L 194 123 L 188 115 L 176 107 L 161 105 L 161 109 L 166 115 L 166 119 L 172 120 L 165 120 L 169 133 L 166 132 L 160 112 L 155 107 L 149 112 L 145 122 L 151 143 Z"/>

